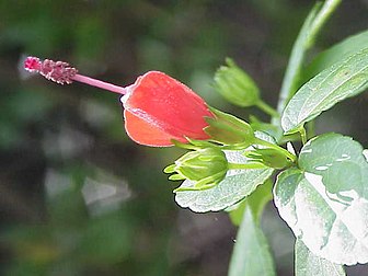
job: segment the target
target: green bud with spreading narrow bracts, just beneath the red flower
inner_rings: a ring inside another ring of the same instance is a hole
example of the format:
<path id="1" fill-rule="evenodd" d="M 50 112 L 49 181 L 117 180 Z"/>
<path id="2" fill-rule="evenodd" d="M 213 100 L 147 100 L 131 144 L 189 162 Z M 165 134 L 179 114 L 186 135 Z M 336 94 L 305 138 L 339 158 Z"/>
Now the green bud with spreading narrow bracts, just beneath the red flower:
<path id="1" fill-rule="evenodd" d="M 219 148 L 205 148 L 191 151 L 163 170 L 174 173 L 169 180 L 189 180 L 195 182 L 191 189 L 206 189 L 220 183 L 228 171 L 228 160 Z M 183 191 L 185 188 L 179 188 Z"/>

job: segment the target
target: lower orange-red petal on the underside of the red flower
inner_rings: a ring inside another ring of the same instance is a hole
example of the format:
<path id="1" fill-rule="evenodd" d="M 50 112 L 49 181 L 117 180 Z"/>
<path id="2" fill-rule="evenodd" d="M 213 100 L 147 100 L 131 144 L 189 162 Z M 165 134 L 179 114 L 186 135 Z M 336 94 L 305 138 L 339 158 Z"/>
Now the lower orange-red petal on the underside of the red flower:
<path id="1" fill-rule="evenodd" d="M 169 147 L 172 146 L 171 139 L 186 142 L 183 137 L 173 137 L 164 133 L 153 124 L 137 117 L 127 110 L 124 111 L 125 129 L 128 136 L 135 142 L 151 147 Z"/>

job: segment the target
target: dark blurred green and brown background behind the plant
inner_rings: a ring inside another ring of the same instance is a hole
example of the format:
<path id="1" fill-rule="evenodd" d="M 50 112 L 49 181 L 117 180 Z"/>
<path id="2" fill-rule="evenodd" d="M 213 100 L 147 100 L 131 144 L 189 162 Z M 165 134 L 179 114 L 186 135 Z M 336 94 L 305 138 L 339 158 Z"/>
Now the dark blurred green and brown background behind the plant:
<path id="1" fill-rule="evenodd" d="M 118 97 L 22 70 L 27 55 L 128 85 L 162 70 L 220 110 L 211 89 L 229 56 L 276 106 L 288 55 L 313 1 L 0 1 L 0 274 L 226 275 L 237 234 L 226 214 L 181 209 L 162 169 L 182 151 L 134 143 Z M 314 51 L 367 28 L 368 1 L 344 1 Z M 367 100 L 340 104 L 317 133 L 365 147 Z M 263 228 L 279 275 L 292 275 L 292 234 L 272 204 Z M 364 266 L 349 275 L 364 275 Z"/>

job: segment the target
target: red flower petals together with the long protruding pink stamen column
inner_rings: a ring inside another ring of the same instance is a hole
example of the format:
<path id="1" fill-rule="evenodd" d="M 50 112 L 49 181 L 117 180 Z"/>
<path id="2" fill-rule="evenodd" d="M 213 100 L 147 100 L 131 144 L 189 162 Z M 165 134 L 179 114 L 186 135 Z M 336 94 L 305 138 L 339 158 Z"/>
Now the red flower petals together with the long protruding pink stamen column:
<path id="1" fill-rule="evenodd" d="M 60 84 L 79 81 L 123 94 L 125 128 L 138 143 L 166 147 L 173 145 L 172 139 L 187 142 L 185 137 L 197 140 L 209 138 L 203 130 L 208 126 L 205 117 L 215 115 L 205 101 L 163 72 L 150 71 L 139 77 L 133 85 L 122 88 L 82 76 L 64 61 L 42 61 L 36 57 L 27 57 L 24 68 Z"/>

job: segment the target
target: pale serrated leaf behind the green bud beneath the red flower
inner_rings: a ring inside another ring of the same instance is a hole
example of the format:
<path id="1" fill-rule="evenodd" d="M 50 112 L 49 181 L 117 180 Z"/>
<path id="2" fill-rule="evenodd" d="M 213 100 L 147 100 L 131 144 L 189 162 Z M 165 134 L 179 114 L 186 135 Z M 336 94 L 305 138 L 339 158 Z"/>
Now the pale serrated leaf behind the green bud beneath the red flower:
<path id="1" fill-rule="evenodd" d="M 264 133 L 256 131 L 255 135 L 261 139 L 274 142 L 272 137 Z M 249 159 L 244 157 L 244 151 L 225 150 L 225 154 L 230 163 L 246 163 Z M 215 187 L 204 191 L 179 191 L 175 200 L 181 207 L 187 207 L 197 212 L 222 210 L 252 194 L 272 175 L 273 171 L 271 168 L 229 170 L 225 180 Z M 186 180 L 180 187 L 193 185 L 194 182 Z"/>

